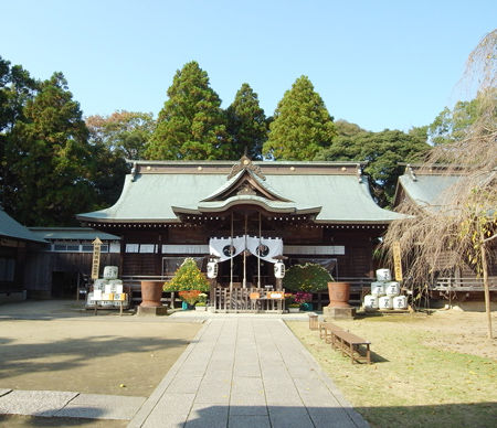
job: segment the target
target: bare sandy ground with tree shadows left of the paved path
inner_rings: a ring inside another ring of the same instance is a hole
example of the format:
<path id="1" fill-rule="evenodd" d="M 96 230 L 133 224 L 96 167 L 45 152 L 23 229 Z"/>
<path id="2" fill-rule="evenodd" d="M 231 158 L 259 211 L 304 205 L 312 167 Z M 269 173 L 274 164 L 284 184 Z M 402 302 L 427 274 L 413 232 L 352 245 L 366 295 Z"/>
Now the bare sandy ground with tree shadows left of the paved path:
<path id="1" fill-rule="evenodd" d="M 200 327 L 116 312 L 95 317 L 75 302 L 3 304 L 0 388 L 148 397 Z"/>

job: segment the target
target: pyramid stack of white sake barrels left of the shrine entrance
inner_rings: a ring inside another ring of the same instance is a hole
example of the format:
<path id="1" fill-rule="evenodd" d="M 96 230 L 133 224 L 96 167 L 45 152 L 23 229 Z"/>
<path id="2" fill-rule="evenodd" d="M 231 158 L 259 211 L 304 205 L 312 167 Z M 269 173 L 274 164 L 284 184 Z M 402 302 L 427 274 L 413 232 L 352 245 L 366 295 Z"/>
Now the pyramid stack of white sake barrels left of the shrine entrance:
<path id="1" fill-rule="evenodd" d="M 117 266 L 106 266 L 104 278 L 95 279 L 93 291 L 88 292 L 86 307 L 119 308 L 120 301 L 127 306 L 127 295 L 123 293 L 123 280 L 117 278 Z"/>

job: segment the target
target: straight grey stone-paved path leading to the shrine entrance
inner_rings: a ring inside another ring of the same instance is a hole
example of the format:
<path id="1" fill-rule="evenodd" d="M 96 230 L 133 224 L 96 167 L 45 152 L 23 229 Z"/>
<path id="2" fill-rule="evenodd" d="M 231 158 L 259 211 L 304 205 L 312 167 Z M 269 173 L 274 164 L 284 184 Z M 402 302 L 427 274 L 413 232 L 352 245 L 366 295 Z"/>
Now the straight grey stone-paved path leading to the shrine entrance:
<path id="1" fill-rule="evenodd" d="M 129 427 L 368 427 L 282 320 L 210 319 Z"/>

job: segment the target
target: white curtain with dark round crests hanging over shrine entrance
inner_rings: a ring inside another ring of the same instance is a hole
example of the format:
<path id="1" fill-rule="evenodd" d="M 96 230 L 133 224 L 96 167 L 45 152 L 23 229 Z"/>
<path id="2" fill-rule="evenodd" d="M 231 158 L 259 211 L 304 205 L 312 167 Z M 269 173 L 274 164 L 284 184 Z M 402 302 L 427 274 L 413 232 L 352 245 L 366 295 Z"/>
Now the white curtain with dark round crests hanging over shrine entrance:
<path id="1" fill-rule="evenodd" d="M 234 252 L 230 252 L 233 245 Z M 225 261 L 232 257 L 236 257 L 244 249 L 248 249 L 251 254 L 262 260 L 269 263 L 278 261 L 274 257 L 283 255 L 283 239 L 282 238 L 263 238 L 258 236 L 236 236 L 233 238 L 233 244 L 230 237 L 228 238 L 211 238 L 209 240 L 210 254 L 218 256 L 219 261 Z"/>

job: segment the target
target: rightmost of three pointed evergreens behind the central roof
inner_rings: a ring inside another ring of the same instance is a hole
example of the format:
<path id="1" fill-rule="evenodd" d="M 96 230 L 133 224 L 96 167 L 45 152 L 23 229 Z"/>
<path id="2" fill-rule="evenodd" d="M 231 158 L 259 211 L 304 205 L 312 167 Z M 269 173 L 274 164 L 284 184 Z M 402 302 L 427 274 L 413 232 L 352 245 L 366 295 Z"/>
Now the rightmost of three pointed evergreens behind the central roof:
<path id="1" fill-rule="evenodd" d="M 287 90 L 269 125 L 264 153 L 274 159 L 313 160 L 336 135 L 334 119 L 307 76 Z"/>

